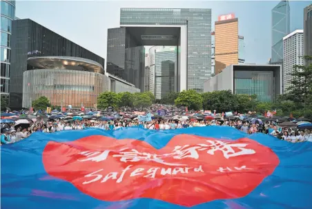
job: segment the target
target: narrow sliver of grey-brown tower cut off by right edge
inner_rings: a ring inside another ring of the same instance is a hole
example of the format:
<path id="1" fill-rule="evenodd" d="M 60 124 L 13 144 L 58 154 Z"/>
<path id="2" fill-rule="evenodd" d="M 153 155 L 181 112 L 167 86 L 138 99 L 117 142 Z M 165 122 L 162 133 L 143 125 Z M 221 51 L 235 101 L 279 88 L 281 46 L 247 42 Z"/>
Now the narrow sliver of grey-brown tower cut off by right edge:
<path id="1" fill-rule="evenodd" d="M 303 27 L 304 55 L 312 56 L 312 4 L 304 8 Z M 312 64 L 311 60 L 306 62 L 306 65 L 310 64 Z"/>

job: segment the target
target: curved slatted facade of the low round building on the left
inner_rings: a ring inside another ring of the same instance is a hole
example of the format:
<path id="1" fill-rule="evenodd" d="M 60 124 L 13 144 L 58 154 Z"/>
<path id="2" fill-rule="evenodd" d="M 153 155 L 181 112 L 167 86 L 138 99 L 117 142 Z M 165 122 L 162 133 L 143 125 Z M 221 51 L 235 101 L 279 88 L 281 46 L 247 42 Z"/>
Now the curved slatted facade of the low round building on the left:
<path id="1" fill-rule="evenodd" d="M 52 106 L 95 108 L 97 96 L 110 90 L 104 74 L 74 70 L 28 70 L 23 73 L 23 108 L 45 96 Z"/>

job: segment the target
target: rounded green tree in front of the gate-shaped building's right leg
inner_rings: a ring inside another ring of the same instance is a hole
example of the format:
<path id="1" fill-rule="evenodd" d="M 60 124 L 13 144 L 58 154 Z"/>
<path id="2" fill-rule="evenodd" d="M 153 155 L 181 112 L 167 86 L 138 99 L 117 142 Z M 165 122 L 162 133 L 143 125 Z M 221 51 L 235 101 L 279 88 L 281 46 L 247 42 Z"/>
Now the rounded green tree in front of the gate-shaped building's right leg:
<path id="1" fill-rule="evenodd" d="M 175 105 L 186 106 L 188 110 L 200 110 L 202 109 L 202 101 L 202 95 L 195 90 L 184 90 L 175 99 Z"/>

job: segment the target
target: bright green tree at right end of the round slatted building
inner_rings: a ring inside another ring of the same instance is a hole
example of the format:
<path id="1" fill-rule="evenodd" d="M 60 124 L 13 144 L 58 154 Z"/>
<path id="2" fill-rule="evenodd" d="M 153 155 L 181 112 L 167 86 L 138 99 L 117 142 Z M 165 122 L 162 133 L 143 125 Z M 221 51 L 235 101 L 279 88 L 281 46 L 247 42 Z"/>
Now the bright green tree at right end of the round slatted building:
<path id="1" fill-rule="evenodd" d="M 119 96 L 115 92 L 103 92 L 97 97 L 97 108 L 104 110 L 108 107 L 118 108 Z"/>

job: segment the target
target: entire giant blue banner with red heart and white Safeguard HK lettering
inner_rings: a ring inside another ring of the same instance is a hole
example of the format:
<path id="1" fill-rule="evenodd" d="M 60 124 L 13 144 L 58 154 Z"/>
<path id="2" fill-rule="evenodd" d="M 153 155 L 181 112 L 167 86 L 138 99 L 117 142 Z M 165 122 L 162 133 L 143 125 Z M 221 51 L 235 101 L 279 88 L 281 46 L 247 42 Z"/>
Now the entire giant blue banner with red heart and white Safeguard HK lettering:
<path id="1" fill-rule="evenodd" d="M 35 133 L 1 146 L 1 208 L 311 208 L 311 159 L 222 126 Z"/>

